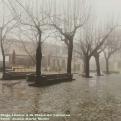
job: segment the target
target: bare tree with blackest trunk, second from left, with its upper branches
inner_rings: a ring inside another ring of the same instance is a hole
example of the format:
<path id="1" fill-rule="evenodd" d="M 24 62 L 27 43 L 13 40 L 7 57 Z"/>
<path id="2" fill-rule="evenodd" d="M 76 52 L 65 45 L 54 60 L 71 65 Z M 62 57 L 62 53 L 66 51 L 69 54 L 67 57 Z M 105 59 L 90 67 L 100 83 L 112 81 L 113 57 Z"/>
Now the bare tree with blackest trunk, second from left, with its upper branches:
<path id="1" fill-rule="evenodd" d="M 46 19 L 42 13 L 42 11 L 37 10 L 37 15 L 34 13 L 33 7 L 27 7 L 22 4 L 21 1 L 15 0 L 17 5 L 19 5 L 20 8 L 22 8 L 21 11 L 17 11 L 16 8 L 13 6 L 11 1 L 9 1 L 12 10 L 15 13 L 15 16 L 19 16 L 18 19 L 16 19 L 20 26 L 24 25 L 26 26 L 28 30 L 31 30 L 32 32 L 36 33 L 36 39 L 37 39 L 37 47 L 36 47 L 36 75 L 37 79 L 38 76 L 41 75 L 41 62 L 42 62 L 42 32 L 43 32 L 43 26 L 45 25 L 44 20 Z M 39 15 L 38 15 L 39 12 Z"/>

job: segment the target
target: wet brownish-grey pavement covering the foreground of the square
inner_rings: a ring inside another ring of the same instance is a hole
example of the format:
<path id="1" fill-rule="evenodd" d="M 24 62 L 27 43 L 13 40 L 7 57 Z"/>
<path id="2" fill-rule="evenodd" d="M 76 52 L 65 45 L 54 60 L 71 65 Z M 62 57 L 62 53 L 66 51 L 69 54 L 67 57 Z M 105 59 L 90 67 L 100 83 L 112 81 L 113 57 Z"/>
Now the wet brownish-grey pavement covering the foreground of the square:
<path id="1" fill-rule="evenodd" d="M 75 79 L 41 88 L 25 80 L 0 81 L 0 113 L 70 114 L 50 121 L 121 121 L 121 75 Z"/>

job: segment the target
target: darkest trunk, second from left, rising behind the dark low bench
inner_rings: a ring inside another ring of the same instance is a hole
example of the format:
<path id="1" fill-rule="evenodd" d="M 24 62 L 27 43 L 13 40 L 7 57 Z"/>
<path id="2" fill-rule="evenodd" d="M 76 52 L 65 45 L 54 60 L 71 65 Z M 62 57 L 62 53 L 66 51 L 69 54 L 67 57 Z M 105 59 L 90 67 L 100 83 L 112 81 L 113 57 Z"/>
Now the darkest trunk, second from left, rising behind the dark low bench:
<path id="1" fill-rule="evenodd" d="M 36 76 L 41 75 L 41 61 L 42 61 L 42 48 L 41 48 L 41 33 L 40 33 L 39 42 L 36 49 Z"/>

